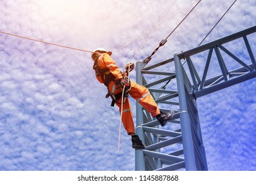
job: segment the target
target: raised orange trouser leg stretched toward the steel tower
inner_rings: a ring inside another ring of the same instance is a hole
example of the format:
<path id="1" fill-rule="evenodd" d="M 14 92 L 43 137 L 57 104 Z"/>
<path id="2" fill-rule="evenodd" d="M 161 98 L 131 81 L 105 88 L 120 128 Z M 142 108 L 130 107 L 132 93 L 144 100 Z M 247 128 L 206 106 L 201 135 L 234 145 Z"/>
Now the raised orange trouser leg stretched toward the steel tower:
<path id="1" fill-rule="evenodd" d="M 155 103 L 153 97 L 149 93 L 149 90 L 143 85 L 138 85 L 138 83 L 131 81 L 132 88 L 129 91 L 131 97 L 136 99 L 138 103 L 147 110 L 151 116 L 155 117 L 160 114 L 157 103 Z"/>

